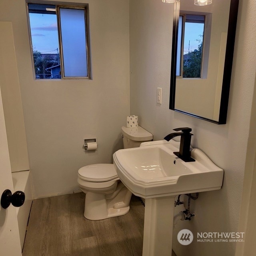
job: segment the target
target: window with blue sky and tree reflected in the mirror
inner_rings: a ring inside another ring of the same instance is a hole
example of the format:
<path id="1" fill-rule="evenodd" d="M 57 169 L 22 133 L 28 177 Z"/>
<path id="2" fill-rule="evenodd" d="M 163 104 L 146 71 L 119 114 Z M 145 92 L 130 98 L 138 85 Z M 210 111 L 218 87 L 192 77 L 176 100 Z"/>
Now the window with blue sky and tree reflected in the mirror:
<path id="1" fill-rule="evenodd" d="M 176 76 L 201 78 L 205 16 L 180 14 Z"/>

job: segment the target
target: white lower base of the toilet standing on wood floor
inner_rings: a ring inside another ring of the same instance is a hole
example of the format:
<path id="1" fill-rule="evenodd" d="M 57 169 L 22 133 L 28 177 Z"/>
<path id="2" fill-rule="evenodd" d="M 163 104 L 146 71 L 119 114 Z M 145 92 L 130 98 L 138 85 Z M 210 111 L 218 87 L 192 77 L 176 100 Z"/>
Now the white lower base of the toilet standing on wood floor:
<path id="1" fill-rule="evenodd" d="M 132 192 L 126 187 L 113 198 L 111 195 L 86 192 L 84 217 L 88 220 L 103 220 L 124 215 L 130 210 L 131 196 Z"/>

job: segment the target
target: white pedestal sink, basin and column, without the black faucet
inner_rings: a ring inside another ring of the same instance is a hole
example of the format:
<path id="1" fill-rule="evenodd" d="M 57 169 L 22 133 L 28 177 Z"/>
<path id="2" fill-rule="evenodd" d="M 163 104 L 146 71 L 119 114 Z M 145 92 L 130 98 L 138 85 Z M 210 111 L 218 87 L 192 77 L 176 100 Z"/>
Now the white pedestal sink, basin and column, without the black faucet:
<path id="1" fill-rule="evenodd" d="M 120 180 L 136 196 L 145 198 L 143 256 L 171 256 L 174 198 L 218 190 L 224 171 L 198 148 L 195 162 L 184 162 L 173 152 L 179 142 L 142 143 L 140 148 L 118 150 L 113 155 Z"/>

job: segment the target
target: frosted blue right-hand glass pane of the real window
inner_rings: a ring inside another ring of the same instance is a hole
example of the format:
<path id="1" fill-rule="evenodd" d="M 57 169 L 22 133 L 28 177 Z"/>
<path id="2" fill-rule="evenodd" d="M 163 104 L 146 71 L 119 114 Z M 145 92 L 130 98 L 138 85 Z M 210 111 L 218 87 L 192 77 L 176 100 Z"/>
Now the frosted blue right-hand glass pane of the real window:
<path id="1" fill-rule="evenodd" d="M 84 10 L 60 8 L 64 77 L 87 77 Z"/>

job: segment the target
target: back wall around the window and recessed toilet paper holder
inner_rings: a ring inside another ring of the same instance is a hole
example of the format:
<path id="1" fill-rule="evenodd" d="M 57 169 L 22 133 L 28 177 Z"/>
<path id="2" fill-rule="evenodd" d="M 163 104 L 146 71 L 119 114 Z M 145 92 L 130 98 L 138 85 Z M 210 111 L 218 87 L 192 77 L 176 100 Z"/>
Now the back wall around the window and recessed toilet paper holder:
<path id="1" fill-rule="evenodd" d="M 78 168 L 111 163 L 130 114 L 129 2 L 80 2 L 89 4 L 93 80 L 34 80 L 25 1 L 0 2 L 0 20 L 13 26 L 35 198 L 77 190 Z M 92 136 L 98 151 L 84 152 Z"/>

